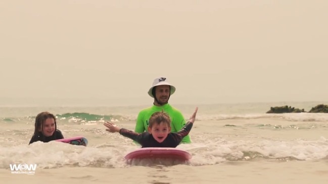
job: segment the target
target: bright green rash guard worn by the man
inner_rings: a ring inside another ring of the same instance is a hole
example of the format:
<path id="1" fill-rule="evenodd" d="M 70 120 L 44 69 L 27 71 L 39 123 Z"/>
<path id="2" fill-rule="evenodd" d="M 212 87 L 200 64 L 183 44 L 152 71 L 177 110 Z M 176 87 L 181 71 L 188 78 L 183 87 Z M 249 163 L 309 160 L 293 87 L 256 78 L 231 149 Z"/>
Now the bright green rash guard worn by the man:
<path id="1" fill-rule="evenodd" d="M 162 110 L 168 113 L 171 118 L 171 132 L 176 133 L 181 130 L 183 126 L 185 126 L 186 122 L 182 113 L 178 109 L 172 107 L 170 104 L 167 103 L 162 106 L 153 105 L 151 107 L 141 110 L 136 119 L 134 132 L 143 133 L 148 131 L 150 117 L 154 112 L 161 112 Z M 181 142 L 191 143 L 190 136 L 185 136 Z"/>

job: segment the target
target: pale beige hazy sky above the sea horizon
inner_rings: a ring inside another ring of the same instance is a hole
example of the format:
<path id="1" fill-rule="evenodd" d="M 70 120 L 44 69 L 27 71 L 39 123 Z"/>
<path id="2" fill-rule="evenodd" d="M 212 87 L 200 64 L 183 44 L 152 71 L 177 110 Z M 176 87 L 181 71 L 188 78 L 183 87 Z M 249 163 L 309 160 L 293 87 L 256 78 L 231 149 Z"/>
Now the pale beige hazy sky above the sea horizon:
<path id="1" fill-rule="evenodd" d="M 2 105 L 328 101 L 328 1 L 0 1 Z M 46 101 L 45 101 L 46 100 Z M 0 104 L 1 105 L 1 104 Z"/>

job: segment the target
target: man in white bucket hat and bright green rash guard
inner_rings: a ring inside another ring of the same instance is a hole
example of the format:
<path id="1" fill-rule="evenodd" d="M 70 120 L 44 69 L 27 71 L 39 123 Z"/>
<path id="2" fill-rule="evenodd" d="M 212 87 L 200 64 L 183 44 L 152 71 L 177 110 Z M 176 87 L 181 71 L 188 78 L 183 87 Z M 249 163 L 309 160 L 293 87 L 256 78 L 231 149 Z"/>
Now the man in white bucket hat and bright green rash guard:
<path id="1" fill-rule="evenodd" d="M 139 112 L 134 132 L 143 133 L 147 131 L 151 115 L 154 112 L 161 111 L 168 113 L 171 118 L 171 132 L 178 132 L 185 125 L 185 119 L 178 109 L 168 103 L 170 96 L 174 92 L 175 87 L 170 85 L 166 78 L 156 78 L 153 86 L 148 91 L 149 96 L 154 98 L 154 105 Z M 190 136 L 185 136 L 181 143 L 191 143 Z"/>

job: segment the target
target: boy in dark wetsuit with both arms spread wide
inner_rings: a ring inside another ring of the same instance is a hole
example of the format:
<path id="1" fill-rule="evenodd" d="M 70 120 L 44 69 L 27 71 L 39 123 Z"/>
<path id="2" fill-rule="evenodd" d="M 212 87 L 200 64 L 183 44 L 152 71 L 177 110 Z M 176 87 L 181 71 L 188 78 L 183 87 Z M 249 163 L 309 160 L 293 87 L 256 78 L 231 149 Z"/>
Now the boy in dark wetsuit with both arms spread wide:
<path id="1" fill-rule="evenodd" d="M 113 122 L 106 122 L 104 125 L 108 129 L 108 132 L 118 132 L 124 137 L 128 137 L 140 145 L 142 148 L 147 147 L 171 147 L 178 146 L 183 137 L 189 134 L 191 131 L 197 113 L 198 107 L 196 107 L 194 114 L 190 117 L 185 126 L 177 133 L 171 132 L 171 119 L 165 112 L 155 112 L 149 119 L 148 132 L 135 133 L 133 131 L 126 130 L 124 128 L 117 127 Z"/>

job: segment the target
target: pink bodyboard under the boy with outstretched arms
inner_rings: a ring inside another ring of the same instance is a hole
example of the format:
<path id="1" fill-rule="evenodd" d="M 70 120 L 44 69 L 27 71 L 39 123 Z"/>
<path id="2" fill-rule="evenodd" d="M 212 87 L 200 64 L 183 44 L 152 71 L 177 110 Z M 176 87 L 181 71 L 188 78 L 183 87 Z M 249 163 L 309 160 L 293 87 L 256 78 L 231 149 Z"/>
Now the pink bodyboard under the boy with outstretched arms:
<path id="1" fill-rule="evenodd" d="M 128 153 L 124 157 L 125 160 L 135 158 L 170 158 L 178 160 L 189 160 L 192 158 L 192 155 L 178 148 L 139 148 Z"/>

